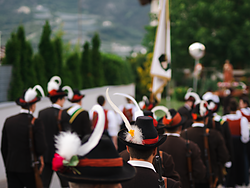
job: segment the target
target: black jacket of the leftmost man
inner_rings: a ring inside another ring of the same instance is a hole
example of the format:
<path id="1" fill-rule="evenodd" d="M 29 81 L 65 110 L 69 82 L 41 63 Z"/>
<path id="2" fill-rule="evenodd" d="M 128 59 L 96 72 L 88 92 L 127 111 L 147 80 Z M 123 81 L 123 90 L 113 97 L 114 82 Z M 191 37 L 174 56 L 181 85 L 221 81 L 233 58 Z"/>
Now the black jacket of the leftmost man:
<path id="1" fill-rule="evenodd" d="M 20 113 L 6 119 L 2 130 L 1 152 L 6 171 L 32 172 L 31 153 L 29 145 L 29 126 L 33 116 Z M 38 156 L 44 154 L 46 142 L 44 127 L 39 119 L 33 126 L 35 152 Z"/>

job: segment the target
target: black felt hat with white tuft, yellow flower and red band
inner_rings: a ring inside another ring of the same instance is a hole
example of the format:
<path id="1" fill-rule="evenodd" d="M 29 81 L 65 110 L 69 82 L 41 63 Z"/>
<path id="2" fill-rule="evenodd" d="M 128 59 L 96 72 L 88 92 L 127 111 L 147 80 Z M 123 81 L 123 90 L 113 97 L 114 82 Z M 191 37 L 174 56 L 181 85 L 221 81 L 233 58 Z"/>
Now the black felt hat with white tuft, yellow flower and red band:
<path id="1" fill-rule="evenodd" d="M 122 129 L 118 133 L 119 139 L 127 146 L 140 150 L 148 150 L 161 145 L 166 136 L 159 136 L 153 124 L 153 118 L 148 116 L 139 116 L 132 126 L 134 134 L 131 135 L 127 129 Z"/>

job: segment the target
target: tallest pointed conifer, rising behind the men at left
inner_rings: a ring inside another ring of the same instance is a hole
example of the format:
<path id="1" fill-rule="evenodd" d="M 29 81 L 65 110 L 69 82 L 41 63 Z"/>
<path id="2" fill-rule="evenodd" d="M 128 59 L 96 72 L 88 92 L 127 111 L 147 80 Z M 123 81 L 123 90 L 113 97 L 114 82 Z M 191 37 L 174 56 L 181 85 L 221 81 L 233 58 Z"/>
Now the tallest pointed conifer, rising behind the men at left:
<path id="1" fill-rule="evenodd" d="M 54 45 L 50 39 L 50 35 L 51 28 L 49 22 L 46 21 L 45 25 L 43 26 L 43 32 L 39 43 L 39 53 L 45 62 L 45 74 L 47 80 L 58 73 L 58 67 L 55 64 L 56 54 Z"/>

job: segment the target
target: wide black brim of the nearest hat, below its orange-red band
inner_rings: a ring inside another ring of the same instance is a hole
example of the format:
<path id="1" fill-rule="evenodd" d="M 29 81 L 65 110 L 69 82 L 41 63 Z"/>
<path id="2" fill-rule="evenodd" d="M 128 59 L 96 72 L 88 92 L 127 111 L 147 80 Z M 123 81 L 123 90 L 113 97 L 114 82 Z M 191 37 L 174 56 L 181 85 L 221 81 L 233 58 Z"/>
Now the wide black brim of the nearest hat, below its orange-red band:
<path id="1" fill-rule="evenodd" d="M 59 172 L 60 176 L 74 183 L 119 183 L 132 179 L 136 174 L 136 169 L 123 160 L 122 167 L 102 167 L 93 170 L 94 167 L 76 167 L 81 174 L 69 172 Z M 110 175 L 109 170 L 117 173 Z M 91 173 L 93 172 L 93 173 Z"/>

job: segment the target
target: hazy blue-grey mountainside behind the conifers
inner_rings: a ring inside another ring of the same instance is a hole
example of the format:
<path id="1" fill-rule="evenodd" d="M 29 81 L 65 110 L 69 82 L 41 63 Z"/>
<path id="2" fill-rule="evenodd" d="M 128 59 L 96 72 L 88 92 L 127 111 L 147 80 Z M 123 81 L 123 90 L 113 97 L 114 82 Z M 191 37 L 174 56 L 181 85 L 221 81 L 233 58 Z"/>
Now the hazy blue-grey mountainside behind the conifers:
<path id="1" fill-rule="evenodd" d="M 37 48 L 42 26 L 49 20 L 53 31 L 63 29 L 65 42 L 75 44 L 81 38 L 83 43 L 97 31 L 103 51 L 126 55 L 140 45 L 149 10 L 138 0 L 0 0 L 2 43 L 22 24 Z"/>

